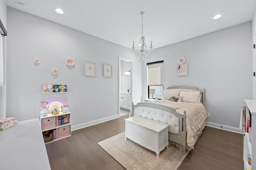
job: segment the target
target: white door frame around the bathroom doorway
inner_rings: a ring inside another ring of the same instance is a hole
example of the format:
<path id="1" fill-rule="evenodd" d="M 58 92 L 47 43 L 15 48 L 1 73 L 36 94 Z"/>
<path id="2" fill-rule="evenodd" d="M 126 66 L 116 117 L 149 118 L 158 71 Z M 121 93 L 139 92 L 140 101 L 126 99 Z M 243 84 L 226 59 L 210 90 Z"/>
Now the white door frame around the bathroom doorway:
<path id="1" fill-rule="evenodd" d="M 120 92 L 121 92 L 121 80 L 122 80 L 122 74 L 121 74 L 121 61 L 128 61 L 131 63 L 131 71 L 130 71 L 130 80 L 131 80 L 131 101 L 133 101 L 133 60 L 128 59 L 125 57 L 118 56 L 118 115 L 120 117 Z"/>

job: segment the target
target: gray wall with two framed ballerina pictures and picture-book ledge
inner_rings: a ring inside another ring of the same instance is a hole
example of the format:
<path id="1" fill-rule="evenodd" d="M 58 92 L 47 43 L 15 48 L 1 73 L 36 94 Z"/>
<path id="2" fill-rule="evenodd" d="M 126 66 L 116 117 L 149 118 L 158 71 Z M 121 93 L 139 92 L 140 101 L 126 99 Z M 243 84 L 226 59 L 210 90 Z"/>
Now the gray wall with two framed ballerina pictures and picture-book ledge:
<path id="1" fill-rule="evenodd" d="M 7 21 L 7 117 L 38 118 L 44 97 L 67 102 L 72 125 L 118 114 L 118 56 L 137 61 L 131 49 L 10 7 Z M 66 66 L 68 58 L 74 66 Z M 84 76 L 84 61 L 97 64 L 97 76 Z M 112 78 L 103 76 L 103 64 L 112 64 Z M 134 102 L 142 100 L 141 70 L 134 62 Z M 66 84 L 68 93 L 42 94 L 44 83 Z"/>

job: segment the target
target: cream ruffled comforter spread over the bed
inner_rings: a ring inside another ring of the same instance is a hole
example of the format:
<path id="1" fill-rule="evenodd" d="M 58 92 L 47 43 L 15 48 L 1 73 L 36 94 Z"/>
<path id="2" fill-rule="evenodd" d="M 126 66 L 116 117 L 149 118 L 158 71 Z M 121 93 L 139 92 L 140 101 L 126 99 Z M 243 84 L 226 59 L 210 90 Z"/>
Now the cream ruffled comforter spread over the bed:
<path id="1" fill-rule="evenodd" d="M 172 102 L 169 100 L 158 100 L 152 103 L 172 107 L 180 114 L 184 114 L 183 112 L 186 111 L 187 145 L 193 148 L 198 136 L 206 126 L 207 112 L 204 105 L 202 103 Z"/>

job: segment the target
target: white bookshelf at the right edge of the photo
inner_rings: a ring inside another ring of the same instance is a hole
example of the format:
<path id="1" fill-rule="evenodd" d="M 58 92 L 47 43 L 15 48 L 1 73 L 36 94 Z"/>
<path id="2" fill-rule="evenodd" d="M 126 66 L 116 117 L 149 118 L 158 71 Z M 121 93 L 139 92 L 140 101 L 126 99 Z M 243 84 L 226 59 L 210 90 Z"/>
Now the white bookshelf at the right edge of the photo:
<path id="1" fill-rule="evenodd" d="M 244 170 L 252 167 L 256 168 L 256 100 L 244 100 L 246 104 L 246 117 L 250 116 L 250 133 L 244 133 Z M 250 113 L 250 114 L 249 114 Z M 251 136 L 251 139 L 250 139 Z M 248 163 L 248 155 L 251 156 L 251 165 Z"/>

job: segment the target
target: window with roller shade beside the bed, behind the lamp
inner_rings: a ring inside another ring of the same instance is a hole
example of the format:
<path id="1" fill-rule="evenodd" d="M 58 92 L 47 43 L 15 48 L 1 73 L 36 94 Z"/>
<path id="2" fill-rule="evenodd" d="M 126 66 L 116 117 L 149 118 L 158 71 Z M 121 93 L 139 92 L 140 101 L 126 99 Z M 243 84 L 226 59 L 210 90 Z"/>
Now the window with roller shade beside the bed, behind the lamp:
<path id="1" fill-rule="evenodd" d="M 162 99 L 164 94 L 164 61 L 147 63 L 147 66 L 148 98 L 152 98 L 153 96 L 154 99 Z"/>

